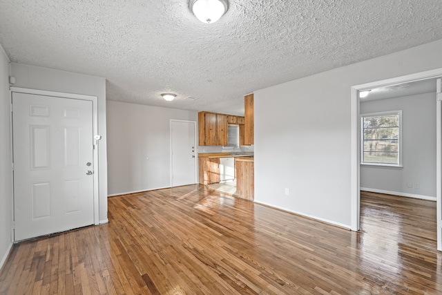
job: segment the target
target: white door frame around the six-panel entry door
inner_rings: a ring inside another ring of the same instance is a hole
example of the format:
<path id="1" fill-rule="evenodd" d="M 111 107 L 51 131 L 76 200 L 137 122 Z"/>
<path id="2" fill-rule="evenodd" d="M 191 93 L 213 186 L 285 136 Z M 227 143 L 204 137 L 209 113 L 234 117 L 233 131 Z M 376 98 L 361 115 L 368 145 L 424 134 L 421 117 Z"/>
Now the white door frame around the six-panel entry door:
<path id="1" fill-rule="evenodd" d="M 60 97 L 67 99 L 81 99 L 92 102 L 92 114 L 93 114 L 93 135 L 94 137 L 98 135 L 98 97 L 92 95 L 81 95 L 74 93 L 61 93 L 55 91 L 43 91 L 38 89 L 30 89 L 30 88 L 20 88 L 20 87 L 10 87 L 10 104 L 12 106 L 12 93 L 26 93 L 33 95 L 43 95 L 50 97 Z M 10 116 L 10 121 L 12 122 L 12 113 Z M 12 151 L 12 124 L 11 124 L 11 151 Z M 99 165 L 98 165 L 98 142 L 99 140 L 93 140 L 93 164 L 94 164 L 94 173 L 93 173 L 93 204 L 94 204 L 94 225 L 99 225 Z M 12 175 L 12 206 L 14 206 L 14 178 Z M 14 208 L 12 208 L 14 209 Z M 12 211 L 13 212 L 13 211 Z M 15 222 L 15 216 L 13 216 Z M 14 231 L 14 229 L 12 229 Z M 14 237 L 15 240 L 15 237 Z"/>

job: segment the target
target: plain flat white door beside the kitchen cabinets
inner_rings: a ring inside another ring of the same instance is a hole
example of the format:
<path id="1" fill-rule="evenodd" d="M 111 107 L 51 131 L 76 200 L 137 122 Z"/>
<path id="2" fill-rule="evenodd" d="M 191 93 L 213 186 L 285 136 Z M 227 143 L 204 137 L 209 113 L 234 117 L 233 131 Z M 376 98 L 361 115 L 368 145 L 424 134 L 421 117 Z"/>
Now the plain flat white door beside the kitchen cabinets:
<path id="1" fill-rule="evenodd" d="M 195 184 L 195 126 L 193 121 L 171 121 L 172 187 Z"/>

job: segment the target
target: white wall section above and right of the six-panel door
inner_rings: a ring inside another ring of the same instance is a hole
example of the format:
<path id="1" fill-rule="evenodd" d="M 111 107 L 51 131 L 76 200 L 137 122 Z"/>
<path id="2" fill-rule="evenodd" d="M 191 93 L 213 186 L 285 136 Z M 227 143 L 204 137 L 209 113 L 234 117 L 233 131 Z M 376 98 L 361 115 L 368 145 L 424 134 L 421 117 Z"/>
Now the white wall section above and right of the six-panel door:
<path id="1" fill-rule="evenodd" d="M 11 64 L 11 73 L 15 87 L 98 97 L 99 222 L 107 222 L 106 79 L 16 63 Z"/>

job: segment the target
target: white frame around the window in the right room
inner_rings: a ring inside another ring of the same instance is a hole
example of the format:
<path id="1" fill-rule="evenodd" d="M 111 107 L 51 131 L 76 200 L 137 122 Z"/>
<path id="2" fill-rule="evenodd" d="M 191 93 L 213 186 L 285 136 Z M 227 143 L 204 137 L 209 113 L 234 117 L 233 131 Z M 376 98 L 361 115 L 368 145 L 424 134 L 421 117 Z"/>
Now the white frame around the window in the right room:
<path id="1" fill-rule="evenodd" d="M 398 135 L 398 163 L 390 164 L 390 163 L 372 163 L 372 162 L 363 162 L 363 153 L 364 153 L 364 126 L 363 126 L 363 118 L 364 117 L 380 117 L 387 115 L 398 115 L 398 124 L 399 124 L 399 135 Z M 381 166 L 381 167 L 389 167 L 389 168 L 403 168 L 402 164 L 402 110 L 399 111 L 385 111 L 385 112 L 377 112 L 377 113 L 367 113 L 361 114 L 360 116 L 361 122 L 361 151 L 359 162 L 364 166 Z"/>

